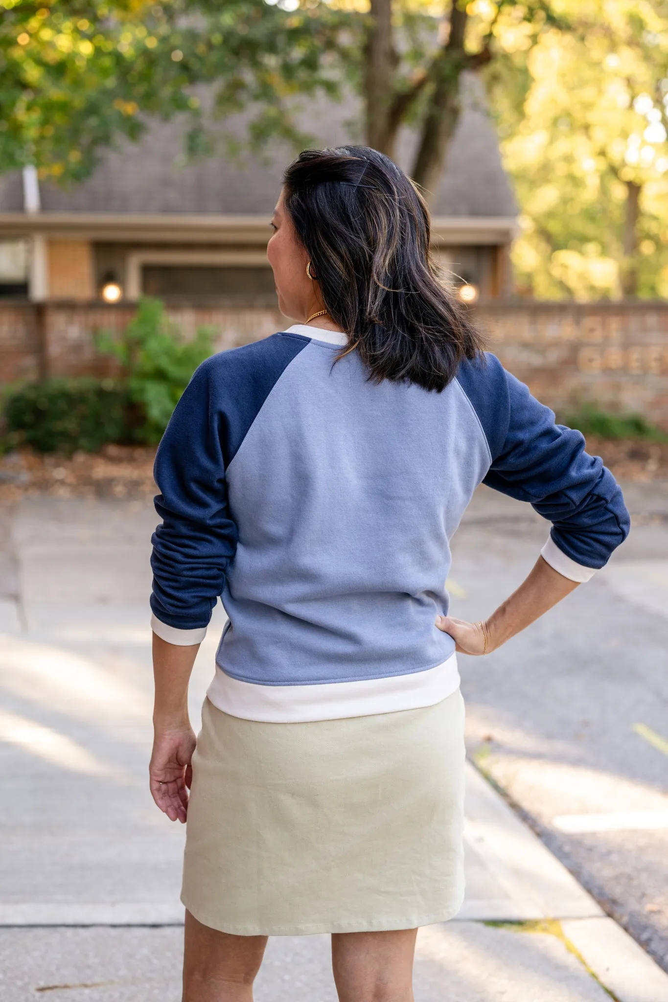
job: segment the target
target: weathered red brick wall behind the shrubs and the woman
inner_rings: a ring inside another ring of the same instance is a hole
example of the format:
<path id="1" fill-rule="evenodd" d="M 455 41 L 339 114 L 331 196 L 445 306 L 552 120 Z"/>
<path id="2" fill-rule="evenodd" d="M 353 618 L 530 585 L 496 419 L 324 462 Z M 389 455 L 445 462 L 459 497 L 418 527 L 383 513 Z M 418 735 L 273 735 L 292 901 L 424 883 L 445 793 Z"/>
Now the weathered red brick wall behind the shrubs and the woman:
<path id="1" fill-rule="evenodd" d="M 272 309 L 174 307 L 169 314 L 186 335 L 214 328 L 218 351 L 285 326 Z M 111 372 L 96 356 L 93 334 L 121 330 L 131 315 L 131 307 L 101 303 L 0 305 L 0 383 Z M 668 430 L 668 304 L 489 304 L 476 317 L 504 365 L 558 412 L 596 401 Z"/>

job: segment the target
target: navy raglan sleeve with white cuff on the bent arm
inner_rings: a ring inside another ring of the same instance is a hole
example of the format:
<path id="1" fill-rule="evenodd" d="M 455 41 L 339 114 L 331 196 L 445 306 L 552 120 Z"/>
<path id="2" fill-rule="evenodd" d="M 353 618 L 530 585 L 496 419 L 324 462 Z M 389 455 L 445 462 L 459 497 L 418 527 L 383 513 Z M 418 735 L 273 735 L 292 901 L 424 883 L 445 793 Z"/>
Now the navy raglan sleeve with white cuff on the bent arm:
<path id="1" fill-rule="evenodd" d="M 581 433 L 557 424 L 494 355 L 466 363 L 457 378 L 490 446 L 483 482 L 528 501 L 552 522 L 543 557 L 565 577 L 589 580 L 629 532 L 615 478 L 598 456 L 585 452 Z"/>

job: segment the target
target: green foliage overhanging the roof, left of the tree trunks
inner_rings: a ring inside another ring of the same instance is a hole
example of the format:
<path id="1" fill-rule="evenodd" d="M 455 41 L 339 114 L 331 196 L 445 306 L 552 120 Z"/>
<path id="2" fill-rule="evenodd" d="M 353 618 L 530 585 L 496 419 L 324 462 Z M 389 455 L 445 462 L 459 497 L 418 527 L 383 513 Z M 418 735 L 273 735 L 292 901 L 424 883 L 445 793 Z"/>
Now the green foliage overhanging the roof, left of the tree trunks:
<path id="1" fill-rule="evenodd" d="M 99 149 L 137 139 L 148 115 L 190 118 L 188 154 L 210 151 L 205 119 L 252 108 L 250 144 L 303 141 L 293 98 L 333 94 L 351 15 L 262 0 L 0 0 L 0 173 L 35 164 L 80 180 Z M 359 20 L 359 18 L 358 18 Z M 212 84 L 205 109 L 195 84 Z"/>

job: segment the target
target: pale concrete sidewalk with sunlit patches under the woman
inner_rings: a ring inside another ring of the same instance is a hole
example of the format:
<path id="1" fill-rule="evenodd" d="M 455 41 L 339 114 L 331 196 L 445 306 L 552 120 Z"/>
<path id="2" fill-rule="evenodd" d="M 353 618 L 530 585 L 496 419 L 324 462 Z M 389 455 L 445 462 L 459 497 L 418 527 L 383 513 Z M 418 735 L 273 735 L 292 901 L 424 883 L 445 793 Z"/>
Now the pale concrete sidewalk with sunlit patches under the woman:
<path id="1" fill-rule="evenodd" d="M 177 1002 L 183 830 L 146 784 L 155 516 L 139 502 L 32 500 L 6 519 L 0 998 Z M 668 976 L 473 767 L 466 843 L 467 900 L 421 930 L 417 1002 L 668 1002 Z M 328 937 L 271 940 L 256 999 L 335 1002 Z"/>

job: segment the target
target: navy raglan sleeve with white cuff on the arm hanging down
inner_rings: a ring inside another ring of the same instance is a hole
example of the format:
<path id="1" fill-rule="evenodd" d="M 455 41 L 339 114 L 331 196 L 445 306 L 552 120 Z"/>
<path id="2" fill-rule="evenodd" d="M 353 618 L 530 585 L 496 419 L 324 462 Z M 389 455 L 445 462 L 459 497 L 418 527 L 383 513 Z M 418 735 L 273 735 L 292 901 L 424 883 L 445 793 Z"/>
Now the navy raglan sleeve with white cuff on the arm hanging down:
<path id="1" fill-rule="evenodd" d="M 272 387 L 307 338 L 274 335 L 207 359 L 171 416 L 155 457 L 162 519 L 152 537 L 153 632 L 199 643 L 236 549 L 226 470 Z"/>

